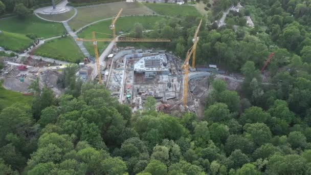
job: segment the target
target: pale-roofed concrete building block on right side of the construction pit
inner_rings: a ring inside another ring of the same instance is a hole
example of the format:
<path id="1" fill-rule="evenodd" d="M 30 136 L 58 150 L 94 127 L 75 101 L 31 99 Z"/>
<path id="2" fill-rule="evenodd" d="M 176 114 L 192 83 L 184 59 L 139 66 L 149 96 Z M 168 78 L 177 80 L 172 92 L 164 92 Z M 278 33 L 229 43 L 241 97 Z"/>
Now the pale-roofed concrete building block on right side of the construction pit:
<path id="1" fill-rule="evenodd" d="M 136 108 L 148 96 L 167 102 L 179 98 L 180 80 L 176 76 L 176 65 L 171 56 L 164 53 L 140 58 L 134 64 L 132 103 Z"/>

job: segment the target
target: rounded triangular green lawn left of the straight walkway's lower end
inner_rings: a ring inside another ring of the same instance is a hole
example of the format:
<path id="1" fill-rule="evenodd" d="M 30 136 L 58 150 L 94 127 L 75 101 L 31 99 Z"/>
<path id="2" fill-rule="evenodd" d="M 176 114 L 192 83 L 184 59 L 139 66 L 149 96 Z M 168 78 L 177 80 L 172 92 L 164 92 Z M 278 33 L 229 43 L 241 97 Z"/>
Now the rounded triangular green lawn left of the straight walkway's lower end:
<path id="1" fill-rule="evenodd" d="M 83 53 L 71 37 L 57 38 L 44 43 L 35 50 L 34 55 L 55 58 L 68 62 L 80 62 Z"/>

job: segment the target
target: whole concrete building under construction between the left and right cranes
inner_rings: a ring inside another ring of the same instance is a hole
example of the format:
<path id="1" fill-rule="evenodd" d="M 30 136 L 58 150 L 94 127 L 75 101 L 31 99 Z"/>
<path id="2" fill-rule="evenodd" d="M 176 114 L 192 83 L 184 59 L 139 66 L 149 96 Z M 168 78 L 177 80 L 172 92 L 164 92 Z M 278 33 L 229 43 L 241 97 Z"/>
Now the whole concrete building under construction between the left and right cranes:
<path id="1" fill-rule="evenodd" d="M 120 52 L 123 56 L 116 58 Z M 121 103 L 131 104 L 136 111 L 143 108 L 148 96 L 163 102 L 179 98 L 179 65 L 173 55 L 141 49 L 120 52 L 112 58 L 116 61 L 109 73 L 107 88 Z"/>

